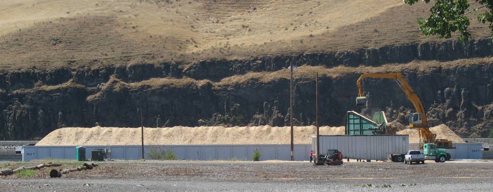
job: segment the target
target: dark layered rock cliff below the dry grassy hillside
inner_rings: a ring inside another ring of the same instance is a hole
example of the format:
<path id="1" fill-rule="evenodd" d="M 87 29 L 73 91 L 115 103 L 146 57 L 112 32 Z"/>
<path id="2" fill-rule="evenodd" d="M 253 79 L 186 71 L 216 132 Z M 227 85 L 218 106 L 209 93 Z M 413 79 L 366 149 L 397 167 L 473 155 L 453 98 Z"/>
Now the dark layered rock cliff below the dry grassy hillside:
<path id="1" fill-rule="evenodd" d="M 487 135 L 493 127 L 493 65 L 471 63 L 426 66 L 426 70 L 392 69 L 412 60 L 452 61 L 493 55 L 489 40 L 440 44 L 408 44 L 339 53 L 273 56 L 241 61 L 203 61 L 108 66 L 97 69 L 28 69 L 0 74 L 0 139 L 43 137 L 65 126 L 140 125 L 289 125 L 289 79 L 256 78 L 228 83 L 225 77 L 268 72 L 295 65 L 373 66 L 400 71 L 420 96 L 430 124 L 446 123 L 456 133 Z M 403 63 L 384 65 L 387 63 Z M 437 62 L 438 63 L 438 62 Z M 383 71 L 382 71 L 383 72 Z M 365 80 L 365 108 L 355 106 L 359 72 L 320 78 L 320 123 L 340 126 L 350 110 L 370 114 L 385 111 L 391 120 L 407 124 L 412 105 L 394 81 Z M 154 78 L 154 79 L 151 79 Z M 297 125 L 315 119 L 313 78 L 296 78 L 294 118 Z"/>

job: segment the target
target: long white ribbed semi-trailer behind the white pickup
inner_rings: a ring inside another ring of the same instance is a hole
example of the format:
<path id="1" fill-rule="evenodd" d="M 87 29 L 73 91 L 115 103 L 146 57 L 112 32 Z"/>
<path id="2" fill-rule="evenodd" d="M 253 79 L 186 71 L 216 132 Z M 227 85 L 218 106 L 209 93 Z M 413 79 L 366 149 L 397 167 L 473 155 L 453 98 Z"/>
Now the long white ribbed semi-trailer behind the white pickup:
<path id="1" fill-rule="evenodd" d="M 313 154 L 316 154 L 316 136 L 312 137 Z M 409 135 L 320 135 L 320 152 L 339 150 L 343 158 L 386 160 L 391 154 L 406 154 Z"/>

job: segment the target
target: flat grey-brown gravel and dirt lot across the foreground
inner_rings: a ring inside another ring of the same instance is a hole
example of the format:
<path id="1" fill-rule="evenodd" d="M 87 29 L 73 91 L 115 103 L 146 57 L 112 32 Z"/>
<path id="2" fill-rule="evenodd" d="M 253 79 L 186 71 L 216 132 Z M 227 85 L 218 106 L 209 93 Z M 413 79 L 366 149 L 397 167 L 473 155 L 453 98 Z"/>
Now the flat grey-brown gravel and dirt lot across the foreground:
<path id="1" fill-rule="evenodd" d="M 36 164 L 36 163 L 31 163 Z M 73 165 L 73 163 L 67 163 Z M 104 162 L 85 173 L 0 177 L 2 191 L 131 190 L 474 190 L 493 187 L 493 162 L 363 162 L 313 166 L 308 162 Z M 18 166 L 18 165 L 16 165 Z M 439 173 L 439 174 L 438 174 Z"/>

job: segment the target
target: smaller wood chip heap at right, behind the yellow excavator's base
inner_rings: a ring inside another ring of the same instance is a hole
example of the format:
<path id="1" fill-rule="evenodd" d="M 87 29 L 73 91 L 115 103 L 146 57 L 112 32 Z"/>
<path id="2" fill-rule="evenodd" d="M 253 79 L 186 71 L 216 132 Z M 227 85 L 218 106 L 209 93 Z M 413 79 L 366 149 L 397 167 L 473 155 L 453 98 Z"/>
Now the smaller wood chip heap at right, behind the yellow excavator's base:
<path id="1" fill-rule="evenodd" d="M 431 127 L 430 131 L 437 134 L 437 139 L 448 139 L 452 142 L 465 142 L 459 135 L 455 134 L 444 124 Z M 404 129 L 397 131 L 396 134 L 409 135 L 409 143 L 419 143 L 419 132 L 417 129 Z"/>

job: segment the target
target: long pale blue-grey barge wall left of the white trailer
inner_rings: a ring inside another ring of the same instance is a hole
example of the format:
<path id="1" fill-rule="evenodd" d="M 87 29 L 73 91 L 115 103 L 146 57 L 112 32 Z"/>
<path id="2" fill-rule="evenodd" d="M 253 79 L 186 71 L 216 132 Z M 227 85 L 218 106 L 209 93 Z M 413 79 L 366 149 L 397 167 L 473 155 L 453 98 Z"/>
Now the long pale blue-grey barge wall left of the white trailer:
<path id="1" fill-rule="evenodd" d="M 84 146 L 86 159 L 91 159 L 91 151 L 111 148 L 111 159 L 138 160 L 142 158 L 141 146 Z M 144 146 L 145 159 L 149 150 L 172 151 L 178 160 L 247 160 L 252 161 L 254 151 L 260 151 L 260 160 L 291 160 L 291 146 L 288 145 L 173 145 L 173 146 Z M 311 150 L 310 144 L 294 145 L 296 161 L 308 161 Z M 76 146 L 23 146 L 22 161 L 41 159 L 75 160 Z"/>

